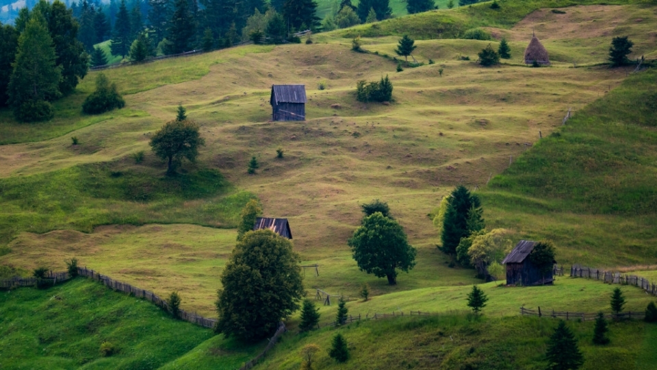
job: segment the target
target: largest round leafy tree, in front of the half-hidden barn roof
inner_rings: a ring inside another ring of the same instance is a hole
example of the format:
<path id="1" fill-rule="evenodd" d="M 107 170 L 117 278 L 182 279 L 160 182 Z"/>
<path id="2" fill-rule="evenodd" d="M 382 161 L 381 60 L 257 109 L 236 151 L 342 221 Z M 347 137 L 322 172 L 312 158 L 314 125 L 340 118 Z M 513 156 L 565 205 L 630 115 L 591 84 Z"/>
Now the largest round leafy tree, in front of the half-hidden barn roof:
<path id="1" fill-rule="evenodd" d="M 271 230 L 244 234 L 221 275 L 216 332 L 246 342 L 272 334 L 304 295 L 300 260 L 292 243 Z"/>

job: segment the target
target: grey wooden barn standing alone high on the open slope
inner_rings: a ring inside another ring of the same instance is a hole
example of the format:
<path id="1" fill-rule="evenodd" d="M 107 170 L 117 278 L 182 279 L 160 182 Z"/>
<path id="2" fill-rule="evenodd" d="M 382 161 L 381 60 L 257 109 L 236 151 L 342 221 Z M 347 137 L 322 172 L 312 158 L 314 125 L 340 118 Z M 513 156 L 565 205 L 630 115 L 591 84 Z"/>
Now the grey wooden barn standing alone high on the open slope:
<path id="1" fill-rule="evenodd" d="M 272 85 L 272 121 L 305 121 L 305 85 Z"/>

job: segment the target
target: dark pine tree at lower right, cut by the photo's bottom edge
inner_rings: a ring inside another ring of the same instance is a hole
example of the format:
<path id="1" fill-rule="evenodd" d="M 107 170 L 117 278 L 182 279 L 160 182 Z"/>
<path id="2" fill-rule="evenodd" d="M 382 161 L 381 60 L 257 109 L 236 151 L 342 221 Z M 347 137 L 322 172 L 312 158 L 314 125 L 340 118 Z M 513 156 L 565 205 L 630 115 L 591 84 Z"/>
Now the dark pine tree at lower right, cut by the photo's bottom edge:
<path id="1" fill-rule="evenodd" d="M 565 321 L 559 321 L 548 341 L 548 351 L 545 354 L 550 370 L 577 370 L 584 364 L 584 356 L 577 345 L 575 335 L 566 326 Z"/>

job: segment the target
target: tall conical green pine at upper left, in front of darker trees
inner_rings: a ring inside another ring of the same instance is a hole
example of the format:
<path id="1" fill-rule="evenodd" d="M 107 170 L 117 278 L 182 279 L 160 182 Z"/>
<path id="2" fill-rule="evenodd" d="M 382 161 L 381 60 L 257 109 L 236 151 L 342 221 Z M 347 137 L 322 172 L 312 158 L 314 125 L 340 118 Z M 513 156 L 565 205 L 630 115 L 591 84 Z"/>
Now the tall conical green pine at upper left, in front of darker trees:
<path id="1" fill-rule="evenodd" d="M 9 103 L 18 121 L 47 121 L 54 116 L 47 101 L 62 95 L 62 66 L 57 66 L 56 60 L 46 21 L 40 12 L 33 11 L 18 38 L 8 86 Z"/>

